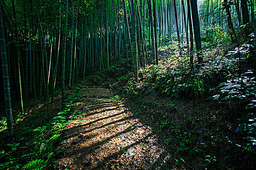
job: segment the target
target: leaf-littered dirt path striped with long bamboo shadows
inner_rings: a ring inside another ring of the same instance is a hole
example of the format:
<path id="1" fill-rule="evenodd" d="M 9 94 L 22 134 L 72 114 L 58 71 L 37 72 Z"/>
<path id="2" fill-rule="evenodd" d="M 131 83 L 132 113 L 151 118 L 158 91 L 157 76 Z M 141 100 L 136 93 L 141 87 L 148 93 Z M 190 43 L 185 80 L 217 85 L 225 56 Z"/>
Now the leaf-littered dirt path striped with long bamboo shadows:
<path id="1" fill-rule="evenodd" d="M 63 131 L 59 170 L 163 169 L 171 154 L 166 144 L 103 87 L 83 87 Z M 170 166 L 170 165 L 169 165 Z"/>

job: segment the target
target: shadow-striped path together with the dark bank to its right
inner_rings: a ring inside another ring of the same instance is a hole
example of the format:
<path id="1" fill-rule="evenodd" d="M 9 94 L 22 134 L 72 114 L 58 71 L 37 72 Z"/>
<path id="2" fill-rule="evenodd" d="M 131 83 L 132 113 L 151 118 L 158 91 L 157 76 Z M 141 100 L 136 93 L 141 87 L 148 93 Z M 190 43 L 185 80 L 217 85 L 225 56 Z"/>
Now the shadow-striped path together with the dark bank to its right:
<path id="1" fill-rule="evenodd" d="M 145 75 L 140 71 L 140 83 L 135 86 L 145 88 Z M 72 121 L 63 131 L 59 147 L 64 153 L 55 169 L 253 167 L 255 154 L 241 151 L 238 144 L 243 135 L 236 131 L 245 103 L 200 98 L 173 100 L 157 95 L 149 87 L 141 92 L 146 95 L 128 97 L 123 94 L 132 79 L 123 63 L 89 76 L 77 86 L 76 93 L 71 92 L 76 99 L 70 111 L 79 116 L 70 117 Z"/>

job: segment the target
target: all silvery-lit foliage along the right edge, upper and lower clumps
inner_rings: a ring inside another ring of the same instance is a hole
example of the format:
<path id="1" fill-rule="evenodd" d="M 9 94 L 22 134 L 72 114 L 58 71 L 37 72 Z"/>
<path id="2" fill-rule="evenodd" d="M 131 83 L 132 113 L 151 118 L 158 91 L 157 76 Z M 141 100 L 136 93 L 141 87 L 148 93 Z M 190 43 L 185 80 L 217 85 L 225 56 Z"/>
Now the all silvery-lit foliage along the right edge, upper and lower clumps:
<path id="1" fill-rule="evenodd" d="M 226 81 L 213 88 L 215 94 L 208 99 L 219 102 L 243 103 L 244 113 L 239 118 L 240 124 L 237 132 L 241 133 L 244 141 L 238 143 L 243 151 L 256 153 L 256 34 L 250 34 L 247 41 L 234 51 L 229 51 L 227 56 L 241 55 L 241 63 L 246 63 L 241 70 L 241 75 L 229 74 Z"/>

